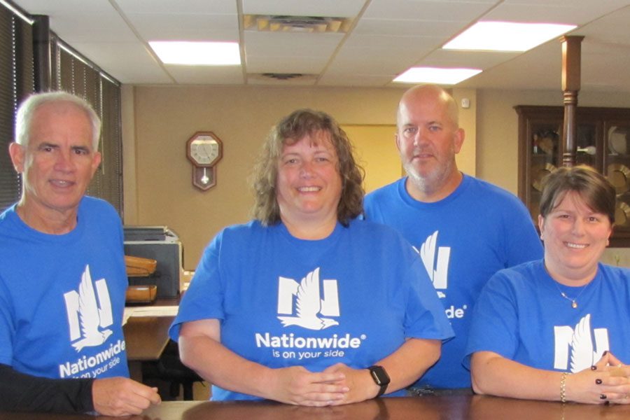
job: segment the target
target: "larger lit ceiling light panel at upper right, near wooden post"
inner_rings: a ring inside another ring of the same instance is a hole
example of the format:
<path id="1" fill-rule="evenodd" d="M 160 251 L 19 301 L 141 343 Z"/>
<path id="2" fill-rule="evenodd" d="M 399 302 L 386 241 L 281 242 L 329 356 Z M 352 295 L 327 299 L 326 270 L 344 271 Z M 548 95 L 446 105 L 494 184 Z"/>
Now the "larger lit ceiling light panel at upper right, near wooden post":
<path id="1" fill-rule="evenodd" d="M 445 50 L 526 51 L 566 34 L 575 25 L 477 22 L 446 43 Z"/>

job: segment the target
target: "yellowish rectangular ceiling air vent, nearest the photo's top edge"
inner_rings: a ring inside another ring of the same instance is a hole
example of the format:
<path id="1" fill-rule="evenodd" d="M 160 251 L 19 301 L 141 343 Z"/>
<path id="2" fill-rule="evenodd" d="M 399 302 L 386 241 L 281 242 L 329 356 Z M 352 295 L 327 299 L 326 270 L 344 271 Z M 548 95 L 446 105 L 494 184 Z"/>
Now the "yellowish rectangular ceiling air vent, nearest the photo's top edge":
<path id="1" fill-rule="evenodd" d="M 244 15 L 246 31 L 262 32 L 332 32 L 348 31 L 351 20 L 321 16 Z"/>

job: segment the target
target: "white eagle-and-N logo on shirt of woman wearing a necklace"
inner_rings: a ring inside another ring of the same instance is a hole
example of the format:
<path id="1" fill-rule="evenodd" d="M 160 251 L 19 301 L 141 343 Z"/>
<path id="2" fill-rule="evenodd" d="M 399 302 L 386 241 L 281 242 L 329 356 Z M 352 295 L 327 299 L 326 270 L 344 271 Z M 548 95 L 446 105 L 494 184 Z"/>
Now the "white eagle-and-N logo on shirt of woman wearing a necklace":
<path id="1" fill-rule="evenodd" d="M 554 327 L 554 368 L 580 372 L 594 365 L 604 351 L 610 349 L 608 329 L 591 330 L 591 314 L 585 315 L 575 324 L 575 329 L 568 325 Z M 570 350 L 570 365 L 569 365 Z"/>

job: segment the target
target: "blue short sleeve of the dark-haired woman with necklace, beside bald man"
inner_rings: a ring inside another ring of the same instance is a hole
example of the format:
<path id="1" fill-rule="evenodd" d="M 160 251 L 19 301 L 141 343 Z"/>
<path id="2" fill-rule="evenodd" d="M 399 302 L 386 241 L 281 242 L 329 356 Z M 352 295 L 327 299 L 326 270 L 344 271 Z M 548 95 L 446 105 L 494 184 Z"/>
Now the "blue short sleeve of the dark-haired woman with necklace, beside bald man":
<path id="1" fill-rule="evenodd" d="M 470 356 L 476 351 L 492 351 L 512 359 L 517 351 L 517 300 L 503 271 L 486 283 L 474 309 L 463 365 L 470 369 Z"/>

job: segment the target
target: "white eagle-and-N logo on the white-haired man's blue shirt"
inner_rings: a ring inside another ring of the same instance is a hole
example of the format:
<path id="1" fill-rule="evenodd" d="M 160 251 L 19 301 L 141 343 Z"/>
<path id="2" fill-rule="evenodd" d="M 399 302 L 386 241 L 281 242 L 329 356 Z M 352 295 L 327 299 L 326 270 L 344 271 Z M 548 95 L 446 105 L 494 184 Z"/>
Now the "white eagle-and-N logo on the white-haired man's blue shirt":
<path id="1" fill-rule="evenodd" d="M 112 334 L 112 330 L 106 328 L 113 323 L 107 283 L 105 279 L 92 283 L 89 265 L 85 266 L 81 275 L 78 293 L 76 290 L 65 293 L 64 300 L 70 341 L 76 351 L 83 347 L 99 346 Z"/>

